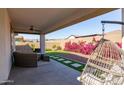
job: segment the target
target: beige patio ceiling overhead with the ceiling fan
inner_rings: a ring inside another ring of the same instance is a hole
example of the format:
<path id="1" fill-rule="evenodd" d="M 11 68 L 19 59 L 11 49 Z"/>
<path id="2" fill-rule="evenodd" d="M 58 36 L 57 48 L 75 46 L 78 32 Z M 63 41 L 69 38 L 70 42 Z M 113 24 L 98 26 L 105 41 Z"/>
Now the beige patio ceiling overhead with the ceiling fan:
<path id="1" fill-rule="evenodd" d="M 15 33 L 47 34 L 110 12 L 112 8 L 9 8 Z M 33 25 L 39 31 L 31 31 Z"/>

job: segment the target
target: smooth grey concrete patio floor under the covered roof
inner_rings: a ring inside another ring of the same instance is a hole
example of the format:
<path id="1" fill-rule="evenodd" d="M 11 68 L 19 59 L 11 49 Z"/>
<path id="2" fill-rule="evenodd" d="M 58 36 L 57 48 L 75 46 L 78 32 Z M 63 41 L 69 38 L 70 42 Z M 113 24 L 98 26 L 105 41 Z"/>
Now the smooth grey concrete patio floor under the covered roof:
<path id="1" fill-rule="evenodd" d="M 80 85 L 77 77 L 80 72 L 59 62 L 38 62 L 37 68 L 14 67 L 10 72 L 10 80 L 14 85 Z"/>

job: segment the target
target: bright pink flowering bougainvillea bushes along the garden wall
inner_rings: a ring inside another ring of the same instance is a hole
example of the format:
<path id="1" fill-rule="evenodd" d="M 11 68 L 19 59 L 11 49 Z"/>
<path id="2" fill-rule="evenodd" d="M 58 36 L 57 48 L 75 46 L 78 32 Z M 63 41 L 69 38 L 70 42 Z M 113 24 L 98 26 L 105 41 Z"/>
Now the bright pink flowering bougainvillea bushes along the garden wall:
<path id="1" fill-rule="evenodd" d="M 86 41 L 80 41 L 78 43 L 69 41 L 65 43 L 64 50 L 90 55 L 96 48 L 97 44 L 98 44 L 98 40 L 96 40 L 95 37 L 92 38 L 91 43 L 87 43 Z M 116 44 L 120 48 L 122 47 L 122 43 L 117 42 Z"/>

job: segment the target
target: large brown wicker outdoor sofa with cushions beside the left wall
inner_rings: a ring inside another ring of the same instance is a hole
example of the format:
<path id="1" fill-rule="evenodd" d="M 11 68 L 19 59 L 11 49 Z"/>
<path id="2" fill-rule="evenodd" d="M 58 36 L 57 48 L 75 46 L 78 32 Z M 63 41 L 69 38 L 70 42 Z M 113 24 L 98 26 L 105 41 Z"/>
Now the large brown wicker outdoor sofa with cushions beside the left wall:
<path id="1" fill-rule="evenodd" d="M 40 54 L 34 53 L 29 45 L 18 45 L 13 52 L 14 65 L 20 67 L 37 67 Z"/>

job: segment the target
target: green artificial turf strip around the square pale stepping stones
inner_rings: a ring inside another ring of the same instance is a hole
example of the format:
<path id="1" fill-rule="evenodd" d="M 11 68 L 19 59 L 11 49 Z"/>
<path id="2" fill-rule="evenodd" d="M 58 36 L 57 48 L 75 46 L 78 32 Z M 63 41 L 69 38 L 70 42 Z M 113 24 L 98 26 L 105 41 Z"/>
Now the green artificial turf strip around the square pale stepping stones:
<path id="1" fill-rule="evenodd" d="M 47 54 L 50 56 L 51 59 L 56 60 L 57 62 L 60 62 L 60 63 L 66 65 L 68 67 L 71 67 L 71 68 L 77 70 L 77 71 L 80 71 L 80 72 L 83 71 L 83 68 L 85 67 L 85 64 L 81 64 L 77 61 L 73 61 L 71 59 L 66 59 L 66 58 L 57 56 L 58 53 L 61 53 L 61 52 L 47 52 Z M 67 53 L 67 52 L 64 52 L 64 53 Z M 54 58 L 54 57 L 58 57 L 58 58 Z M 58 59 L 61 59 L 61 58 L 64 59 L 64 60 L 62 60 L 62 61 L 58 60 Z M 64 63 L 64 61 L 71 61 L 71 63 Z M 74 64 L 74 63 L 78 63 L 81 66 L 80 67 L 74 67 L 74 66 L 71 65 L 71 64 Z"/>

